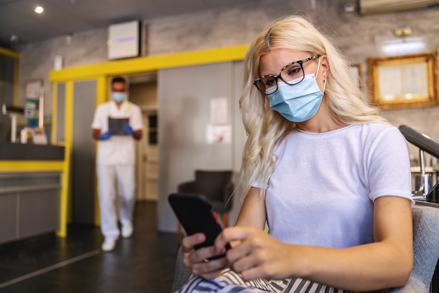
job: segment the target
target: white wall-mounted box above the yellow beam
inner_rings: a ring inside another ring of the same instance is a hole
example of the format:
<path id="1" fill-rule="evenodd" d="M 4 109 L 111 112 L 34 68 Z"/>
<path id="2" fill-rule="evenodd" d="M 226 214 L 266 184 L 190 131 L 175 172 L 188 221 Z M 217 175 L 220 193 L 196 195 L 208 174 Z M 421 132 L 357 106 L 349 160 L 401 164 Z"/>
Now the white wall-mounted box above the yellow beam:
<path id="1" fill-rule="evenodd" d="M 140 22 L 110 25 L 107 45 L 109 60 L 140 56 Z"/>

